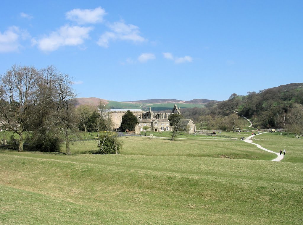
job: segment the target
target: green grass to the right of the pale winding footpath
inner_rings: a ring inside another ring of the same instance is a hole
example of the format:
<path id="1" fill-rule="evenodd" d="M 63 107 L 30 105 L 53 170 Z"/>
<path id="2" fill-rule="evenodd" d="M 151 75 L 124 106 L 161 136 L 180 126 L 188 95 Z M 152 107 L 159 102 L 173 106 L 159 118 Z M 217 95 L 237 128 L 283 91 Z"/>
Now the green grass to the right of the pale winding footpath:
<path id="1" fill-rule="evenodd" d="M 281 135 L 282 134 L 282 135 Z M 303 163 L 303 139 L 295 138 L 294 134 L 285 132 L 265 133 L 255 136 L 254 143 L 260 144 L 271 151 L 286 150 L 283 162 Z"/>

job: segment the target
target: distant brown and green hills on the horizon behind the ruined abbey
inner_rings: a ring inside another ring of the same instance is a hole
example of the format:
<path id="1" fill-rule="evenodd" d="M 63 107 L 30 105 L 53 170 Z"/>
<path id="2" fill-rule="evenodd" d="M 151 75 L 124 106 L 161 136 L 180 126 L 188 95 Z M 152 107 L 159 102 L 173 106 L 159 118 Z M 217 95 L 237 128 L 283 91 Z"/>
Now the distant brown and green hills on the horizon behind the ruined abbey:
<path id="1" fill-rule="evenodd" d="M 178 99 L 147 99 L 147 100 L 138 100 L 138 101 L 127 101 L 127 102 L 118 102 L 110 101 L 101 98 L 76 98 L 76 107 L 83 104 L 92 104 L 97 105 L 99 101 L 103 101 L 106 104 L 106 108 L 110 109 L 142 109 L 148 110 L 149 107 L 153 111 L 170 111 L 175 104 L 179 108 L 202 108 L 204 104 L 208 102 L 219 102 L 209 99 L 193 99 L 190 101 L 178 100 Z"/>

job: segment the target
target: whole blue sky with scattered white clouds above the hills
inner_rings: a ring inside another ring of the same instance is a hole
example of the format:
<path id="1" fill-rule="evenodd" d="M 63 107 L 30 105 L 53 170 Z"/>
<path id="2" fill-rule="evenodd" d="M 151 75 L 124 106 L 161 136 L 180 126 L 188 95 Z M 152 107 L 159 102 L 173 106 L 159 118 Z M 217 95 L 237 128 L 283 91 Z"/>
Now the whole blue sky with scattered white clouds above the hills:
<path id="1" fill-rule="evenodd" d="M 54 65 L 78 97 L 225 100 L 302 82 L 303 1 L 5 1 L 0 74 Z"/>

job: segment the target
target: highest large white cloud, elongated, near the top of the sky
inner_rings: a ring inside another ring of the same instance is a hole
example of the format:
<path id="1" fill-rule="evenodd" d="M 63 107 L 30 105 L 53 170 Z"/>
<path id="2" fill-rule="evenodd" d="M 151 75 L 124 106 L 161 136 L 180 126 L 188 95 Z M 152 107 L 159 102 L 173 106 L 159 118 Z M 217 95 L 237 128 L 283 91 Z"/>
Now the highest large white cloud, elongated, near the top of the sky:
<path id="1" fill-rule="evenodd" d="M 103 8 L 98 7 L 95 9 L 73 9 L 68 11 L 66 14 L 66 18 L 75 21 L 78 24 L 86 24 L 86 23 L 102 23 L 103 17 L 106 15 L 106 12 Z"/>

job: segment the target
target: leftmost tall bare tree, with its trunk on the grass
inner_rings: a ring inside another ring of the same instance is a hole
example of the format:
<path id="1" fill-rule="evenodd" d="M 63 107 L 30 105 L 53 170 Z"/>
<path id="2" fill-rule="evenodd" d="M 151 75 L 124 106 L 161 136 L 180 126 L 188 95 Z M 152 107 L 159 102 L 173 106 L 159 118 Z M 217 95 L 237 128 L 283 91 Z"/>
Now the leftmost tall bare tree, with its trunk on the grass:
<path id="1" fill-rule="evenodd" d="M 18 151 L 23 151 L 23 131 L 35 113 L 38 80 L 39 72 L 33 66 L 13 65 L 1 77 L 1 123 L 5 129 L 19 134 Z"/>

